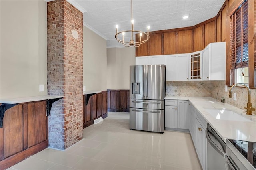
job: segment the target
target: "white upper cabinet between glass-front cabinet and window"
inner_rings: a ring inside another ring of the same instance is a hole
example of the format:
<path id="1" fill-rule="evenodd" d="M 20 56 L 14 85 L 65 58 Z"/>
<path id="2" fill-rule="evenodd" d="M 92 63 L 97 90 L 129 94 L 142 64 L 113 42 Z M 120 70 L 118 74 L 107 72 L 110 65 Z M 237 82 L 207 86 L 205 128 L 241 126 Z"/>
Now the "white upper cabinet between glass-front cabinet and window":
<path id="1" fill-rule="evenodd" d="M 226 79 L 226 42 L 210 43 L 203 50 L 203 80 Z"/>

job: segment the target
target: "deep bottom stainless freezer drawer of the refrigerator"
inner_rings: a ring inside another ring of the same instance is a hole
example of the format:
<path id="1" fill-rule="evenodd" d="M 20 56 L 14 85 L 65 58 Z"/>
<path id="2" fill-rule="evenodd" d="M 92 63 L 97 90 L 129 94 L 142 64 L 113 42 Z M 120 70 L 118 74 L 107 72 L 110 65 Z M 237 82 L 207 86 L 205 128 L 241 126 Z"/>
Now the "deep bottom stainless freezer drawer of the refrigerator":
<path id="1" fill-rule="evenodd" d="M 130 129 L 164 132 L 164 110 L 130 108 Z"/>

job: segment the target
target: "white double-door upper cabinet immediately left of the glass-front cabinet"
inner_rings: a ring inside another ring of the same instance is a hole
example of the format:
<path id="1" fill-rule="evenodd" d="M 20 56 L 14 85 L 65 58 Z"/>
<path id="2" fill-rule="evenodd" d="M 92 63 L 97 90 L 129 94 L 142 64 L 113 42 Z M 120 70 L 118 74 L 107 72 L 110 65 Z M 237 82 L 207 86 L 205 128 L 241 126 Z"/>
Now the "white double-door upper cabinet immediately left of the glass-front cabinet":
<path id="1" fill-rule="evenodd" d="M 187 81 L 188 65 L 188 54 L 166 55 L 166 81 Z"/>

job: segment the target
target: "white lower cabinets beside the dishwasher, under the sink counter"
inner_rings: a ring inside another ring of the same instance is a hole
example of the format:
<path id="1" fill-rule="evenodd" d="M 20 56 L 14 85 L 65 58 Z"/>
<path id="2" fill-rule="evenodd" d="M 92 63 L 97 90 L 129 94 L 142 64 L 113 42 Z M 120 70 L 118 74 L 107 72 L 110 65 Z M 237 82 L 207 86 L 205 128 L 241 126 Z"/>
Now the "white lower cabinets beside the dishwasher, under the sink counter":
<path id="1" fill-rule="evenodd" d="M 207 170 L 207 139 L 205 136 L 206 120 L 191 106 L 190 134 L 203 170 Z"/>

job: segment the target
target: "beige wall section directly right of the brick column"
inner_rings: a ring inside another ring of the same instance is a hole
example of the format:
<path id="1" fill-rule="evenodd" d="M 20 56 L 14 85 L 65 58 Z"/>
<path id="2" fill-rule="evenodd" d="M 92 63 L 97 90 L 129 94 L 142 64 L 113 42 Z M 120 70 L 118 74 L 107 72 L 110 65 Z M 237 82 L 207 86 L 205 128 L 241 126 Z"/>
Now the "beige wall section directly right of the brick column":
<path id="1" fill-rule="evenodd" d="M 107 42 L 84 26 L 84 86 L 86 91 L 107 89 Z"/>

